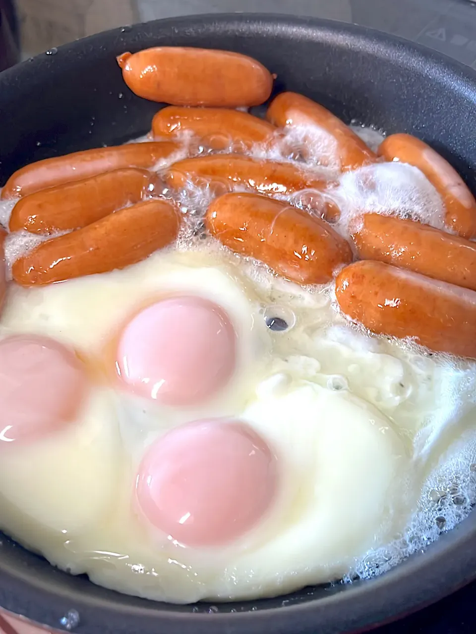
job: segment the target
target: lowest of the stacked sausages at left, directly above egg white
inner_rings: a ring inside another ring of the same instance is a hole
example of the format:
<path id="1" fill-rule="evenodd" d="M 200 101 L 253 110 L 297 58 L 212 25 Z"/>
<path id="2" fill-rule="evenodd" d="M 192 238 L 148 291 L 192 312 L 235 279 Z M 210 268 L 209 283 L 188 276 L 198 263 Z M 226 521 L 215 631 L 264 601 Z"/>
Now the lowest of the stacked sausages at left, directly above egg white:
<path id="1" fill-rule="evenodd" d="M 145 200 L 41 243 L 13 262 L 13 280 L 32 286 L 122 269 L 169 245 L 179 227 L 172 205 Z"/>

